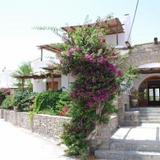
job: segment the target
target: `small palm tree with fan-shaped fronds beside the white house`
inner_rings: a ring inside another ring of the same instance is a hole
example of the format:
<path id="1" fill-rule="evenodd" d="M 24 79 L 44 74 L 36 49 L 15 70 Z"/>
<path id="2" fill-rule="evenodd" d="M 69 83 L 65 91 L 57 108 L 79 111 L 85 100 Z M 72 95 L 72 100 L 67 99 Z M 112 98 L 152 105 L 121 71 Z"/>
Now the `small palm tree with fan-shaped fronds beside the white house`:
<path id="1" fill-rule="evenodd" d="M 13 77 L 17 79 L 15 86 L 20 90 L 24 90 L 24 87 L 32 90 L 32 83 L 30 79 L 25 79 L 24 76 L 29 76 L 33 72 L 31 63 L 25 62 L 18 67 L 18 69 L 13 73 Z"/>

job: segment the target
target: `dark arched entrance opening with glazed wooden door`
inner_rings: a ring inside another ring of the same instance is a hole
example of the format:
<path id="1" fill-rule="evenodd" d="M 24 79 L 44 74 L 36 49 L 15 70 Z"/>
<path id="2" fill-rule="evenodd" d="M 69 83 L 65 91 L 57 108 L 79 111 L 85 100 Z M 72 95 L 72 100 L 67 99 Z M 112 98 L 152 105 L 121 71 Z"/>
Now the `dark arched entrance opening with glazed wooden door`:
<path id="1" fill-rule="evenodd" d="M 146 78 L 138 89 L 139 106 L 160 106 L 160 76 Z"/>

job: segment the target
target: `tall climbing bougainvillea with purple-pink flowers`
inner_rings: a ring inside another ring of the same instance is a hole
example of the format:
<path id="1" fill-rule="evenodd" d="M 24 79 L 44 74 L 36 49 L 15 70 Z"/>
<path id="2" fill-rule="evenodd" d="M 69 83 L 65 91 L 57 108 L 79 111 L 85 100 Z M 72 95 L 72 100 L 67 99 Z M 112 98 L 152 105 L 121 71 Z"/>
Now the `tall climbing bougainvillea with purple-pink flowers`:
<path id="1" fill-rule="evenodd" d="M 89 154 L 89 134 L 98 124 L 107 123 L 108 115 L 116 111 L 115 96 L 135 75 L 133 68 L 122 71 L 123 57 L 107 44 L 106 32 L 97 21 L 95 26 L 76 27 L 62 36 L 63 74 L 76 77 L 70 89 L 72 119 L 64 126 L 62 140 L 68 153 L 81 159 Z"/>

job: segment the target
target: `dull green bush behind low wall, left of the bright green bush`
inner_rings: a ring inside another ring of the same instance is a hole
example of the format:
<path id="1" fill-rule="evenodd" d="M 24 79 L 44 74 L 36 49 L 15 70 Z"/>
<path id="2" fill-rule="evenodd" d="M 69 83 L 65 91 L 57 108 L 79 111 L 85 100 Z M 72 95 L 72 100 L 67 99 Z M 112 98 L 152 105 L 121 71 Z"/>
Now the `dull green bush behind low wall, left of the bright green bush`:
<path id="1" fill-rule="evenodd" d="M 32 104 L 34 103 L 36 93 L 26 91 L 18 91 L 14 95 L 14 106 L 18 111 L 30 111 Z"/>

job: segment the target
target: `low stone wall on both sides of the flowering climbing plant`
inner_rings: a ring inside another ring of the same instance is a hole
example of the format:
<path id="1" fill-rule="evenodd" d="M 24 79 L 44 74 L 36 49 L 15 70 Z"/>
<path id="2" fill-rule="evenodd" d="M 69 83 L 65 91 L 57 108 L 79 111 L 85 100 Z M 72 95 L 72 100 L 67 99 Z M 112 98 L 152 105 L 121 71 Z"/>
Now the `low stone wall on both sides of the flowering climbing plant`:
<path id="1" fill-rule="evenodd" d="M 16 112 L 10 110 L 0 109 L 0 118 L 8 121 L 16 126 L 30 129 L 35 133 L 46 137 L 60 137 L 63 132 L 63 124 L 69 123 L 70 118 L 61 116 L 50 116 L 50 115 L 34 115 L 33 119 L 29 113 Z M 102 124 L 89 135 L 90 146 L 92 150 L 95 150 L 106 144 L 113 133 L 118 128 L 118 116 L 112 115 L 108 124 Z M 105 142 L 105 143 L 103 143 Z"/>

